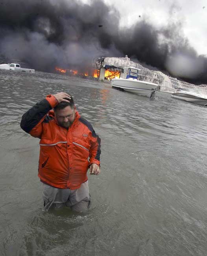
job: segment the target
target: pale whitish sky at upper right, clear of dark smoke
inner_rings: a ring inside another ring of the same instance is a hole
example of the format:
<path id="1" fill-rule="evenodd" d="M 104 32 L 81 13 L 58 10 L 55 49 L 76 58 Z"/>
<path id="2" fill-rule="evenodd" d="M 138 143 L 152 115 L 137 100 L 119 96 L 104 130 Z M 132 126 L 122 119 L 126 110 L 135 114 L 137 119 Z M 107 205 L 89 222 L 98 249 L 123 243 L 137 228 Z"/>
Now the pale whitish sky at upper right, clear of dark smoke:
<path id="1" fill-rule="evenodd" d="M 158 27 L 180 22 L 181 33 L 190 45 L 198 54 L 207 55 L 207 0 L 105 0 L 105 3 L 116 6 L 121 26 L 131 26 L 142 19 Z"/>

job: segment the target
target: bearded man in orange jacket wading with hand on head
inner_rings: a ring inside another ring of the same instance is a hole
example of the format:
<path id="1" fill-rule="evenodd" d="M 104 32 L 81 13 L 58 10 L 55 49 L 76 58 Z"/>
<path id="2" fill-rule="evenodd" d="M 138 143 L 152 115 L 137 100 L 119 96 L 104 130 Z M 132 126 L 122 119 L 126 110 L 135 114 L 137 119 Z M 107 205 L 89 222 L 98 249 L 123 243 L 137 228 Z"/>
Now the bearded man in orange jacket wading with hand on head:
<path id="1" fill-rule="evenodd" d="M 72 96 L 48 95 L 22 116 L 20 126 L 40 139 L 38 176 L 43 183 L 44 210 L 64 205 L 74 211 L 87 210 L 87 170 L 100 173 L 100 138 L 79 115 Z"/>

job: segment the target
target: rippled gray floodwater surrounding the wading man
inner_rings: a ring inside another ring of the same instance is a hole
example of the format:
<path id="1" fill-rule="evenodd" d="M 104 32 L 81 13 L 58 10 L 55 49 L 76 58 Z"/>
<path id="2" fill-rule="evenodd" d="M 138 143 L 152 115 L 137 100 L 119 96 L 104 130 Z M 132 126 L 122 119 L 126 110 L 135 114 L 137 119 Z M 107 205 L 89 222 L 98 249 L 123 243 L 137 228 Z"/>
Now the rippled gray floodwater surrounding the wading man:
<path id="1" fill-rule="evenodd" d="M 204 107 L 56 74 L 0 77 L 2 255 L 205 255 Z M 39 140 L 19 127 L 30 106 L 58 91 L 74 96 L 102 139 L 85 214 L 41 211 Z"/>

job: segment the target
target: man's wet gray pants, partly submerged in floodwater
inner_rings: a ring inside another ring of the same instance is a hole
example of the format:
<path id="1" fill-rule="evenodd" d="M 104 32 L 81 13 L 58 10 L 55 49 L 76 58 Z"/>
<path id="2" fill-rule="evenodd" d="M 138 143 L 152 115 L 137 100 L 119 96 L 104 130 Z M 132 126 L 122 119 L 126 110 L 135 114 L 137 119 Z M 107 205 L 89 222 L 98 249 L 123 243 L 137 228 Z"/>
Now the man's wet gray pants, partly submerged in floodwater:
<path id="1" fill-rule="evenodd" d="M 88 181 L 81 184 L 79 189 L 60 189 L 43 183 L 44 211 L 50 208 L 70 207 L 74 211 L 82 212 L 90 207 Z"/>

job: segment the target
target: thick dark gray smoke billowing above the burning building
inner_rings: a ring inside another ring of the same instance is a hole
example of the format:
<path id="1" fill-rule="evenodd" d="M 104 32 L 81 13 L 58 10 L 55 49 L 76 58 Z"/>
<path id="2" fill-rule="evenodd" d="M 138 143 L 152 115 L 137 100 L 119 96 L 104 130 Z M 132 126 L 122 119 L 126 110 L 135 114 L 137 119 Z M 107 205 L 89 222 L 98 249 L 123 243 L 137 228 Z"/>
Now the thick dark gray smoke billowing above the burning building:
<path id="1" fill-rule="evenodd" d="M 55 66 L 87 66 L 99 56 L 127 54 L 189 82 L 207 83 L 207 58 L 190 47 L 181 24 L 157 29 L 141 19 L 120 29 L 119 20 L 116 8 L 100 0 L 1 0 L 0 55 L 54 71 Z M 190 59 L 189 69 L 176 65 L 181 58 Z M 194 65 L 199 68 L 192 72 Z"/>

